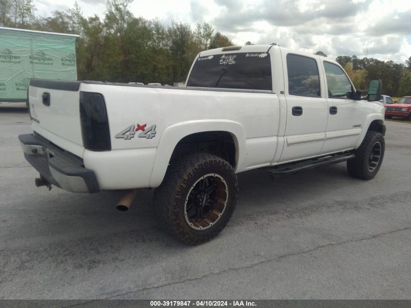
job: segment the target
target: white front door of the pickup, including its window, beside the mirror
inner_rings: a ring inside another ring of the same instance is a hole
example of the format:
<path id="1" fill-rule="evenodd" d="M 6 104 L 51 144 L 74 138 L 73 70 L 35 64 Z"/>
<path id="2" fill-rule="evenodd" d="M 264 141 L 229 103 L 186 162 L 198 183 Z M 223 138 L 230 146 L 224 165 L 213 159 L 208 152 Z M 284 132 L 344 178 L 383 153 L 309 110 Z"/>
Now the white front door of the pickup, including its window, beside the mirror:
<path id="1" fill-rule="evenodd" d="M 328 101 L 328 123 L 322 153 L 352 149 L 365 121 L 361 101 L 351 99 L 354 87 L 335 63 L 322 61 Z"/>

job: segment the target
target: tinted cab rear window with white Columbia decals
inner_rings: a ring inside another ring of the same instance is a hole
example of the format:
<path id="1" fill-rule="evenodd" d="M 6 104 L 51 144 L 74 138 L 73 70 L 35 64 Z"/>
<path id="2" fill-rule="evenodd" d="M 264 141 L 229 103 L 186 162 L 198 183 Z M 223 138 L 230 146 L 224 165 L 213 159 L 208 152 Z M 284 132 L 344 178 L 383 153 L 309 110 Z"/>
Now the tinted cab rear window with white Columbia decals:
<path id="1" fill-rule="evenodd" d="M 272 90 L 268 53 L 214 54 L 198 57 L 187 87 Z"/>

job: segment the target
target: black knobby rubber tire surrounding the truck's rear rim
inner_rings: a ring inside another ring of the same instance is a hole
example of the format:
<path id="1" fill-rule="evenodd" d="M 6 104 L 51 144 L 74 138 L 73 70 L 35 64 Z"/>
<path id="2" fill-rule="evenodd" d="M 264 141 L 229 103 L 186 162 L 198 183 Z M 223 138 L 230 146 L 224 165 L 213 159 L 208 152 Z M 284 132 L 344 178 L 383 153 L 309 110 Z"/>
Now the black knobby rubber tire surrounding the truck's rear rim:
<path id="1" fill-rule="evenodd" d="M 222 194 L 227 204 L 212 225 L 205 230 L 196 230 L 186 218 L 186 204 L 196 182 L 207 176 L 224 183 L 227 195 Z M 226 226 L 234 211 L 237 195 L 237 177 L 230 163 L 212 154 L 190 154 L 169 165 L 164 180 L 154 192 L 154 215 L 167 233 L 185 243 L 201 244 L 218 235 Z"/>

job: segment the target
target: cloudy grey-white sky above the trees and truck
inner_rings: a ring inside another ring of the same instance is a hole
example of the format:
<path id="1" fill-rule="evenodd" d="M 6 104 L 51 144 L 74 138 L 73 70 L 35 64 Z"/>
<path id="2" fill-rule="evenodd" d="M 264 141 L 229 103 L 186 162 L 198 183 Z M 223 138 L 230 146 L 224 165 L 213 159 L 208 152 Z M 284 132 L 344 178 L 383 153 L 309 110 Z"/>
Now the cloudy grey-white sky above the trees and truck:
<path id="1" fill-rule="evenodd" d="M 35 0 L 37 14 L 72 7 L 74 0 Z M 85 16 L 104 16 L 106 0 L 78 0 Z M 404 63 L 411 56 L 409 0 L 134 0 L 147 19 L 208 22 L 237 45 L 277 43 L 315 53 L 356 54 Z"/>

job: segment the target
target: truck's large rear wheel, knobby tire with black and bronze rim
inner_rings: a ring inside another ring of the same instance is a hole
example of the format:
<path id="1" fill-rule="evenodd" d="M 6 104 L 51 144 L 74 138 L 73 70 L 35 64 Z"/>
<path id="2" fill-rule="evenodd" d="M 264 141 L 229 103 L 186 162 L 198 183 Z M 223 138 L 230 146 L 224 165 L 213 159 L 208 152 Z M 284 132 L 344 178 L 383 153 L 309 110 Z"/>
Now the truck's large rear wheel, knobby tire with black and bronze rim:
<path id="1" fill-rule="evenodd" d="M 211 154 L 192 154 L 169 166 L 154 193 L 155 216 L 173 236 L 201 244 L 226 226 L 237 194 L 230 163 Z"/>

